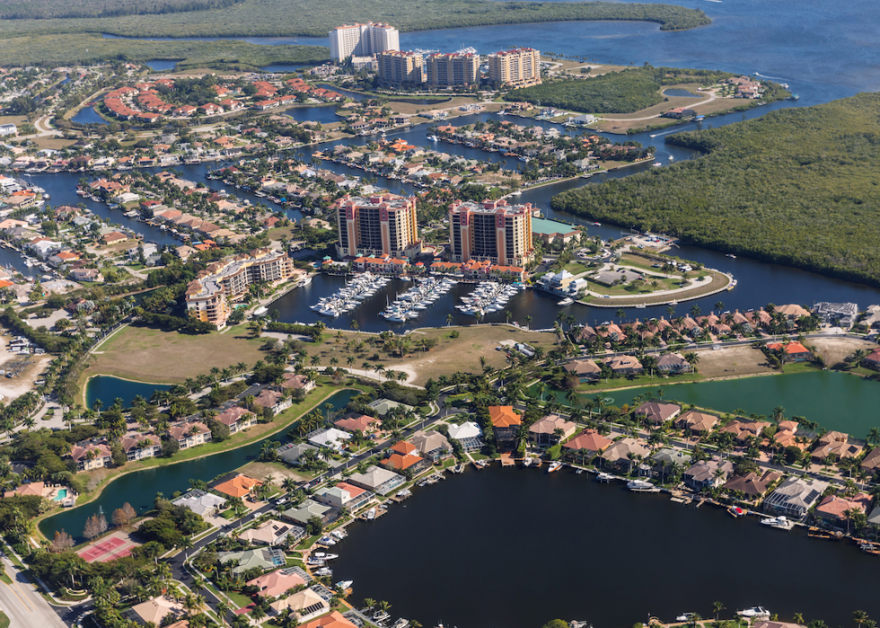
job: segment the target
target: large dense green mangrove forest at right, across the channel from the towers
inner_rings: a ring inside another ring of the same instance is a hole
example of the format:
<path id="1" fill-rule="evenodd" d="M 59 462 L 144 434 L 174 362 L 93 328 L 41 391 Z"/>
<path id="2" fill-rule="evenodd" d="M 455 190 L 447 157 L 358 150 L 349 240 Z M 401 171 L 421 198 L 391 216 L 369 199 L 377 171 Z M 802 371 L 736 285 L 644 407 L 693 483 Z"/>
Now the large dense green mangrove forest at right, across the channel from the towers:
<path id="1" fill-rule="evenodd" d="M 556 211 L 880 285 L 880 94 L 666 137 L 708 155 L 563 192 Z"/>

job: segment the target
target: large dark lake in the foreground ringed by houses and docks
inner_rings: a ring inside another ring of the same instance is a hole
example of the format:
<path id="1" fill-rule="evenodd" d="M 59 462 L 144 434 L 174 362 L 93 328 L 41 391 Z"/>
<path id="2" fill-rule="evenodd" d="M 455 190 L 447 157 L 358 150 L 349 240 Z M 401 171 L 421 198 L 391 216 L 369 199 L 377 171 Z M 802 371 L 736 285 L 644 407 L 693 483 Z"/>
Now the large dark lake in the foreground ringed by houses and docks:
<path id="1" fill-rule="evenodd" d="M 684 507 L 568 471 L 469 469 L 348 527 L 333 579 L 424 625 L 534 628 L 551 619 L 629 626 L 649 615 L 766 606 L 849 625 L 880 615 L 877 559 L 851 545 Z M 400 558 L 400 553 L 407 555 Z M 395 558 L 391 558 L 394 556 Z"/>

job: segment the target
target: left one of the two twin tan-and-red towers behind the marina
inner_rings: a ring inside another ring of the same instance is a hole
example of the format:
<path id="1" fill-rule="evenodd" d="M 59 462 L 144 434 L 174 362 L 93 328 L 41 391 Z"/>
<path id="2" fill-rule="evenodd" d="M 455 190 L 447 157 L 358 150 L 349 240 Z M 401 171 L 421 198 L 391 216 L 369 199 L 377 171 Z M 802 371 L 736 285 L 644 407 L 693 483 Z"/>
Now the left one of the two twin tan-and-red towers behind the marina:
<path id="1" fill-rule="evenodd" d="M 416 198 L 376 194 L 369 199 L 344 196 L 337 202 L 339 257 L 391 255 L 414 257 L 422 252 L 416 222 Z"/>

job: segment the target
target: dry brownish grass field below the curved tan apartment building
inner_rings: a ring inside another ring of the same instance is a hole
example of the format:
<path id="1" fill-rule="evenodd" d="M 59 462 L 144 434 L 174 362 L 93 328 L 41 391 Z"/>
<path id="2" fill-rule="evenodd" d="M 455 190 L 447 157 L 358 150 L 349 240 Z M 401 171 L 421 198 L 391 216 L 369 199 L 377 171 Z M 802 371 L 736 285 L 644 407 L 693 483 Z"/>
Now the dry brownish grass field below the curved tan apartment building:
<path id="1" fill-rule="evenodd" d="M 82 382 L 88 376 L 111 375 L 156 384 L 180 383 L 212 367 L 239 362 L 252 366 L 266 357 L 260 351 L 263 342 L 247 337 L 245 325 L 194 336 L 128 326 L 94 352 Z"/>

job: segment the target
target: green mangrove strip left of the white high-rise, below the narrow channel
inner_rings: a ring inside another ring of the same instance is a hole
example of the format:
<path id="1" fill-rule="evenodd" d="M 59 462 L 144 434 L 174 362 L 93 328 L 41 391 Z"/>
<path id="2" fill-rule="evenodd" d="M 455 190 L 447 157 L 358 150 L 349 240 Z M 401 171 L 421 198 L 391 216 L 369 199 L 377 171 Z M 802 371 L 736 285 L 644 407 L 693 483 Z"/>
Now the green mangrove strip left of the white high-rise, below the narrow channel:
<path id="1" fill-rule="evenodd" d="M 330 58 L 330 49 L 260 46 L 244 41 L 108 40 L 101 35 L 67 34 L 0 39 L 0 58 L 9 66 L 89 63 L 105 59 L 140 62 L 180 59 L 178 69 L 204 66 L 246 69 L 276 63 L 318 63 Z"/>

